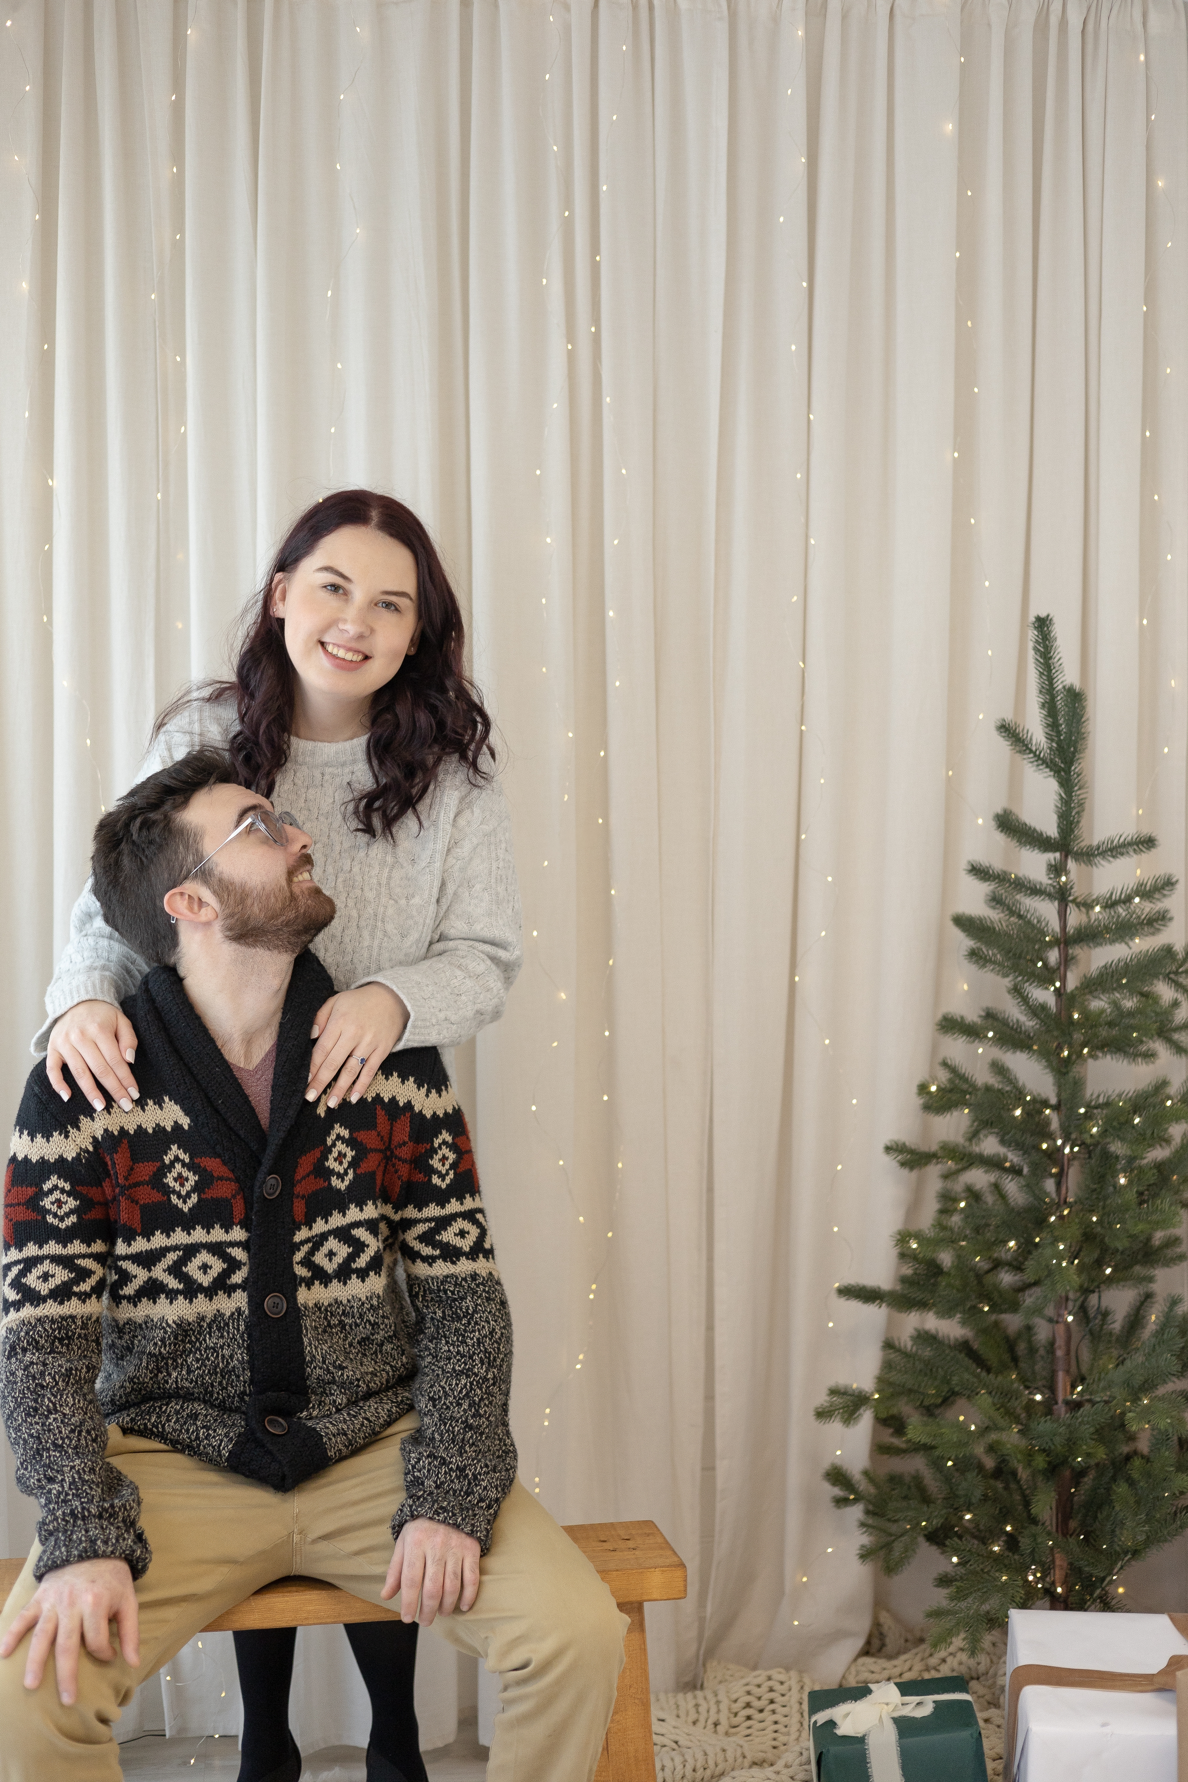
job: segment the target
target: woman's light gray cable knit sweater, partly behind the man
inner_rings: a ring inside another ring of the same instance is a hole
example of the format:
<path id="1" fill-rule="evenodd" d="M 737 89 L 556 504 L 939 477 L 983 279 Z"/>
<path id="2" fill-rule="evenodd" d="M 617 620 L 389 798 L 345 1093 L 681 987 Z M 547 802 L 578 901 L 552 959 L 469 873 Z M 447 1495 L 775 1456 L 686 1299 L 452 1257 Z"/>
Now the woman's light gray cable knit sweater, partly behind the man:
<path id="1" fill-rule="evenodd" d="M 142 775 L 199 743 L 226 743 L 233 722 L 230 700 L 192 707 L 160 734 Z M 424 827 L 404 816 L 387 841 L 360 836 L 344 822 L 351 784 L 370 784 L 365 736 L 349 743 L 294 736 L 273 791 L 276 809 L 292 811 L 313 838 L 317 882 L 338 905 L 313 952 L 335 989 L 376 982 L 403 998 L 410 1021 L 397 1050 L 461 1044 L 499 1019 L 522 960 L 502 788 L 497 781 L 472 786 L 465 766 L 449 761 L 422 804 Z M 34 1035 L 34 1055 L 45 1055 L 50 1028 L 77 1001 L 119 1003 L 146 971 L 107 927 L 87 884 L 46 991 L 48 1021 Z"/>

